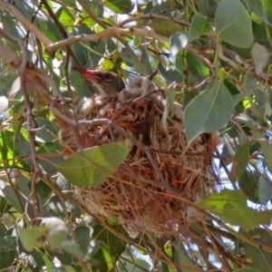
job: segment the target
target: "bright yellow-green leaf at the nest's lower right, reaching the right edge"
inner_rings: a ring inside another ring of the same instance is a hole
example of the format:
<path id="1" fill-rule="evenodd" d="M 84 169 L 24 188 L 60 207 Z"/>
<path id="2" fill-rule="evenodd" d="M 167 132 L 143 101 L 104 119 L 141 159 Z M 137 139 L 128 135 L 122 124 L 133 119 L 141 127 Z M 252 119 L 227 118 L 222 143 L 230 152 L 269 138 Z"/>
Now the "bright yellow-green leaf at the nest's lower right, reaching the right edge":
<path id="1" fill-rule="evenodd" d="M 271 210 L 249 208 L 247 196 L 241 190 L 225 189 L 219 194 L 199 201 L 196 205 L 200 209 L 209 210 L 225 223 L 239 226 L 246 231 L 258 228 L 260 224 L 269 225 L 272 216 Z"/>

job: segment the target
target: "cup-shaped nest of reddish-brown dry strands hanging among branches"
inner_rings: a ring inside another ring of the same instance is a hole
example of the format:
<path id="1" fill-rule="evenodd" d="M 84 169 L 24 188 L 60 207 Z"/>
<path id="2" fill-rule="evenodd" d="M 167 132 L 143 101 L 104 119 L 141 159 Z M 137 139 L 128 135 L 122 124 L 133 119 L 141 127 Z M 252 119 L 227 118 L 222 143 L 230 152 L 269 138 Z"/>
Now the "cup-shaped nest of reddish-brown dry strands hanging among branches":
<path id="1" fill-rule="evenodd" d="M 104 218 L 117 219 L 131 238 L 142 232 L 169 237 L 196 218 L 189 201 L 209 196 L 217 180 L 212 167 L 216 134 L 201 134 L 182 155 L 188 144 L 183 114 L 177 112 L 163 125 L 160 102 L 141 99 L 121 105 L 117 96 L 83 98 L 74 105 L 74 112 L 78 120 L 107 118 L 132 137 L 106 124 L 80 127 L 83 148 L 112 141 L 123 141 L 131 148 L 111 178 L 95 188 L 76 187 L 85 207 Z M 60 136 L 76 149 L 71 131 L 60 131 Z"/>

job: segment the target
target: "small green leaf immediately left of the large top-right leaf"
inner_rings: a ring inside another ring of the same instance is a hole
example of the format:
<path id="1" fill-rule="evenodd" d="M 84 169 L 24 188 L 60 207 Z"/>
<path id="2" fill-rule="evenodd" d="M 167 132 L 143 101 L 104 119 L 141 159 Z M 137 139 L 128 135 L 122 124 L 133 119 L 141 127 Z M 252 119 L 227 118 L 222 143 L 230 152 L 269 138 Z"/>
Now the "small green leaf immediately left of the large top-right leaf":
<path id="1" fill-rule="evenodd" d="M 189 30 L 188 44 L 199 38 L 203 34 L 209 34 L 212 30 L 211 24 L 206 17 L 202 15 L 194 15 L 191 20 Z"/>

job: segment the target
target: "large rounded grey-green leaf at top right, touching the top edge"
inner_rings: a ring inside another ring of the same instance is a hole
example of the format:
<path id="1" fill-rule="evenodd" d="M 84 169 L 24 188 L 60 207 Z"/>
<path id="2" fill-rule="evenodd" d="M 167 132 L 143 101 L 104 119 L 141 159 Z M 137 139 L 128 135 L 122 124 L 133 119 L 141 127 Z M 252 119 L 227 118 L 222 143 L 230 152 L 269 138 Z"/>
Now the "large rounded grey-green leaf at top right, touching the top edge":
<path id="1" fill-rule="evenodd" d="M 240 0 L 222 0 L 216 11 L 215 25 L 222 41 L 240 48 L 253 44 L 251 19 Z"/>

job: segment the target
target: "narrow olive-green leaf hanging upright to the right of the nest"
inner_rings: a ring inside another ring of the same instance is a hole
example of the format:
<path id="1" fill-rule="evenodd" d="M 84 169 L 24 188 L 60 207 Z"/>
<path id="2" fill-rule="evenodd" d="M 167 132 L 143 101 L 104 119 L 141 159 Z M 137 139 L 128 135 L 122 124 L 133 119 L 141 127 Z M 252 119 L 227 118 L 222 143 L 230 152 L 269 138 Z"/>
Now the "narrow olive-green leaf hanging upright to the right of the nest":
<path id="1" fill-rule="evenodd" d="M 236 151 L 234 156 L 231 175 L 236 180 L 239 180 L 241 175 L 246 171 L 248 160 L 249 160 L 249 142 L 247 141 L 238 147 L 238 151 Z"/>

